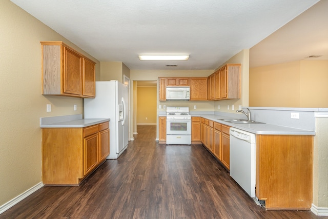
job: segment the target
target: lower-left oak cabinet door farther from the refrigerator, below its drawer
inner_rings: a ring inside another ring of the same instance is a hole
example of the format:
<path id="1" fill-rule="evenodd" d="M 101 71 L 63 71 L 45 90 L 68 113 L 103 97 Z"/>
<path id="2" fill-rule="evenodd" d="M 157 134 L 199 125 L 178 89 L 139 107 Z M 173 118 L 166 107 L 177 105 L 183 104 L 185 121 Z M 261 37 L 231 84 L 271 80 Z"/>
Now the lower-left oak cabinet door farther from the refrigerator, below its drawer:
<path id="1" fill-rule="evenodd" d="M 98 133 L 84 138 L 84 174 L 87 175 L 98 164 Z"/>

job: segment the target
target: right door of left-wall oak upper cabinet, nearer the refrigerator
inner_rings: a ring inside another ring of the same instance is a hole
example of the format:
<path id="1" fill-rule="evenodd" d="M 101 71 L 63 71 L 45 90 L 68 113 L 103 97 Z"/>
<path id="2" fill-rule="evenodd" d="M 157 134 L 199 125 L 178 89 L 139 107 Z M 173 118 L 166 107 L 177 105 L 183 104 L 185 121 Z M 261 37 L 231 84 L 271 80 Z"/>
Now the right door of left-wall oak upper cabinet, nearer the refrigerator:
<path id="1" fill-rule="evenodd" d="M 95 64 L 83 58 L 83 95 L 95 97 Z"/>

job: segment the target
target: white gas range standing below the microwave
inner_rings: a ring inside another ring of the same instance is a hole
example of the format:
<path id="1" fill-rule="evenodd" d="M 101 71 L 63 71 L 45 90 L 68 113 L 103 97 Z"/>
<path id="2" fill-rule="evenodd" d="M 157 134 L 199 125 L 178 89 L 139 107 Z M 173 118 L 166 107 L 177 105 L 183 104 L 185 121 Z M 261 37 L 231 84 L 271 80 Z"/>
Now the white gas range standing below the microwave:
<path id="1" fill-rule="evenodd" d="M 167 107 L 166 121 L 166 144 L 191 145 L 189 107 Z"/>

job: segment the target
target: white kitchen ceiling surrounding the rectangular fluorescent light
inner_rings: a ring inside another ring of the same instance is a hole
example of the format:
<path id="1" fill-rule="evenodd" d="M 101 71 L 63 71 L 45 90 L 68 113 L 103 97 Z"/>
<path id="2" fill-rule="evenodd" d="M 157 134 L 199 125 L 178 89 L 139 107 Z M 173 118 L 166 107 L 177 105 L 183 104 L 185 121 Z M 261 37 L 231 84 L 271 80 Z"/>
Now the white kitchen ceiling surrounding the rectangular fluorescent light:
<path id="1" fill-rule="evenodd" d="M 123 62 L 131 70 L 215 69 L 242 49 L 252 48 L 318 2 L 11 1 L 100 62 Z M 308 30 L 303 32 L 308 33 Z M 295 42 L 294 38 L 290 37 L 289 41 Z M 254 52 L 256 55 L 256 51 Z M 139 54 L 189 54 L 190 58 L 189 61 L 139 61 Z M 260 62 L 254 62 L 252 65 L 258 66 Z"/>

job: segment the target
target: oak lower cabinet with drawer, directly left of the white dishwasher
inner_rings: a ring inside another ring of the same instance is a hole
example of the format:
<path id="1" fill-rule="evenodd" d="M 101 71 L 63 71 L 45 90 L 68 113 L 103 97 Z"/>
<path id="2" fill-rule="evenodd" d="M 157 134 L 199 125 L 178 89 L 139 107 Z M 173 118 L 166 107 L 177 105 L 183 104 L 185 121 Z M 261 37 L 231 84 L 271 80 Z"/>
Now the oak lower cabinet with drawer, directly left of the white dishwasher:
<path id="1" fill-rule="evenodd" d="M 229 126 L 221 126 L 221 163 L 230 169 L 230 133 Z"/>

